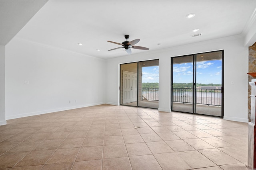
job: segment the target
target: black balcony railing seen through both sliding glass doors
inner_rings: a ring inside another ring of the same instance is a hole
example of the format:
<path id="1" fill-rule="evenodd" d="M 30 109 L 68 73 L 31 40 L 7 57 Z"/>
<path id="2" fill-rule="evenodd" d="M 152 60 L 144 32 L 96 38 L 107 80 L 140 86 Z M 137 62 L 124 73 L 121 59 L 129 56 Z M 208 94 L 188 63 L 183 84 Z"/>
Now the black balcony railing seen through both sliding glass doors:
<path id="1" fill-rule="evenodd" d="M 159 88 L 142 88 L 142 100 L 158 101 Z M 196 89 L 196 104 L 208 106 L 221 106 L 221 89 L 200 88 Z M 193 90 L 191 88 L 173 88 L 172 102 L 192 103 Z"/>

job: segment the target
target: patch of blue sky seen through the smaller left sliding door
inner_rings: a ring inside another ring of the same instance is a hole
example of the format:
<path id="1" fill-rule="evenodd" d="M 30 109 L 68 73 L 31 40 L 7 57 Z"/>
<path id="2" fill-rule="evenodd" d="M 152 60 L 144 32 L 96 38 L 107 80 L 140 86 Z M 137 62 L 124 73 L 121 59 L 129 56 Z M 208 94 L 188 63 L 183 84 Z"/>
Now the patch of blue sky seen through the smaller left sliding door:
<path id="1" fill-rule="evenodd" d="M 142 67 L 142 83 L 159 82 L 159 66 Z"/>

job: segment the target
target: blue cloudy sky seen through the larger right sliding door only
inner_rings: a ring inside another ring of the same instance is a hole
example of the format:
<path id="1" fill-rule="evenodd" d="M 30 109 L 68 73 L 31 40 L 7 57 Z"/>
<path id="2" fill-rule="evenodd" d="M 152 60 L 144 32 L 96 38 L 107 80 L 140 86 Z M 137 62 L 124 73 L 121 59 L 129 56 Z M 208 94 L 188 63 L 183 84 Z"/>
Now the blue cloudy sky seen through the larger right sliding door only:
<path id="1" fill-rule="evenodd" d="M 196 83 L 221 84 L 222 61 L 200 61 L 196 63 Z M 193 82 L 193 64 L 182 63 L 173 65 L 173 82 Z"/>

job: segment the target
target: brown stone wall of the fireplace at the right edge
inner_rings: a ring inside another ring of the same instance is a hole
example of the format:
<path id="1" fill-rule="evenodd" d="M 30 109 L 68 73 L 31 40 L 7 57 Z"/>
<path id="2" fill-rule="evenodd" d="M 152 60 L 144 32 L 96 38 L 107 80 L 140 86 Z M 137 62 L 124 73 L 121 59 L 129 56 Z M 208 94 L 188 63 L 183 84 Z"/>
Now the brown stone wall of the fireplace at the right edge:
<path id="1" fill-rule="evenodd" d="M 256 72 L 256 42 L 254 45 L 249 47 L 249 70 L 248 72 Z M 256 79 L 256 77 L 248 76 L 248 82 L 252 79 Z M 248 119 L 250 121 L 251 117 L 251 86 L 248 84 Z"/>

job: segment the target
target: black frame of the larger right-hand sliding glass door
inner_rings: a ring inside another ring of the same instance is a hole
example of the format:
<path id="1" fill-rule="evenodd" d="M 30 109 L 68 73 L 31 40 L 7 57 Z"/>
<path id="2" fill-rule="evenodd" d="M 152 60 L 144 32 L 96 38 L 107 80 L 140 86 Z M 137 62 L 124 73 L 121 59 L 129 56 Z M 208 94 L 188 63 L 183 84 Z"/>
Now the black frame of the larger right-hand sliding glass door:
<path id="1" fill-rule="evenodd" d="M 172 103 L 173 103 L 173 89 L 172 89 L 172 86 L 173 86 L 173 59 L 174 58 L 178 58 L 178 57 L 188 57 L 188 56 L 193 56 L 193 88 L 192 88 L 192 93 L 193 93 L 193 97 L 192 97 L 192 114 L 197 114 L 197 115 L 207 115 L 207 114 L 202 114 L 202 113 L 196 113 L 196 56 L 197 55 L 200 55 L 200 54 L 205 54 L 205 53 L 214 53 L 214 52 L 222 52 L 222 84 L 221 84 L 221 102 L 222 102 L 222 105 L 221 105 L 221 116 L 217 116 L 217 115 L 208 115 L 208 116 L 213 116 L 213 117 L 224 117 L 224 50 L 218 50 L 218 51 L 209 51 L 209 52 L 204 52 L 204 53 L 195 53 L 195 54 L 190 54 L 190 55 L 182 55 L 182 56 L 176 56 L 176 57 L 171 57 L 171 96 L 170 96 L 170 108 L 171 108 L 171 111 L 176 111 L 176 110 L 173 110 L 173 107 L 172 107 Z M 182 113 L 191 113 L 191 112 L 184 112 L 184 111 L 176 111 L 176 112 L 182 112 Z"/>

